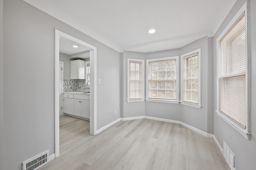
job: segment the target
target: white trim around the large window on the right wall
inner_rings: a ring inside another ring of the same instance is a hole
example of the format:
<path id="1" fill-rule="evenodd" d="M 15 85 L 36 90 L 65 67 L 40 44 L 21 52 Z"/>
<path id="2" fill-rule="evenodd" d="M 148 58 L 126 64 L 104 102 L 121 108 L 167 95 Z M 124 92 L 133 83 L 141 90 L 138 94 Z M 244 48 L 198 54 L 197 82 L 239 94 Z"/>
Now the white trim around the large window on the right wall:
<path id="1" fill-rule="evenodd" d="M 232 127 L 234 127 L 234 129 L 236 129 L 240 134 L 242 134 L 242 136 L 244 136 L 246 139 L 250 140 L 250 123 L 249 123 L 249 108 L 250 108 L 250 87 L 249 87 L 249 73 L 250 73 L 250 49 L 249 49 L 249 19 L 248 19 L 248 10 L 247 10 L 247 6 L 249 6 L 248 1 L 246 1 L 244 3 L 244 5 L 242 6 L 242 8 L 240 8 L 240 10 L 236 13 L 236 15 L 234 16 L 234 18 L 230 21 L 230 23 L 228 23 L 228 25 L 226 26 L 226 28 L 222 31 L 222 33 L 218 36 L 217 40 L 216 40 L 216 113 L 219 117 L 221 117 L 224 121 L 226 121 L 229 125 L 231 125 Z M 236 23 L 236 21 L 240 18 L 240 16 L 245 13 L 245 38 L 246 38 L 246 129 L 244 129 L 243 127 L 241 127 L 240 125 L 238 125 L 238 123 L 236 123 L 235 121 L 233 121 L 232 119 L 230 119 L 228 116 L 220 113 L 219 111 L 219 76 L 220 76 L 220 40 L 222 39 L 222 37 L 224 37 L 224 35 L 226 35 L 226 33 L 228 33 L 228 31 L 230 30 L 230 28 L 232 28 L 232 26 Z"/>

